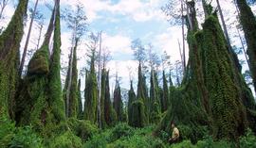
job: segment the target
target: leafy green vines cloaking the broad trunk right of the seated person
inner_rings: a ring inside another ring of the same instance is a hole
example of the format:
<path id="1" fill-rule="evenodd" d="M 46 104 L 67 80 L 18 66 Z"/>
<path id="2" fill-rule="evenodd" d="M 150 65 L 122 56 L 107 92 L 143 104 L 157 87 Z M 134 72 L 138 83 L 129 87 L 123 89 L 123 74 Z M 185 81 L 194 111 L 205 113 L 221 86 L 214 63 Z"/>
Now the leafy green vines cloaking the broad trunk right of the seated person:
<path id="1" fill-rule="evenodd" d="M 203 37 L 203 41 L 199 37 L 197 40 L 204 42 L 203 68 L 212 110 L 213 135 L 218 139 L 236 139 L 246 128 L 246 113 L 234 82 L 235 72 L 225 37 L 215 16 L 207 18 Z"/>

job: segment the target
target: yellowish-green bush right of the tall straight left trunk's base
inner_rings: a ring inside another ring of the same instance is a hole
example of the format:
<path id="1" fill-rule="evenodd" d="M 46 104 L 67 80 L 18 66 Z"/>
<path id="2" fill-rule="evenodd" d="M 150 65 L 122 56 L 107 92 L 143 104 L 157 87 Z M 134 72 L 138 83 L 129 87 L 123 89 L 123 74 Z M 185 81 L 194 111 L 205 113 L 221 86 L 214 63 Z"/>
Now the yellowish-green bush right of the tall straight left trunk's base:
<path id="1" fill-rule="evenodd" d="M 67 121 L 68 126 L 71 131 L 82 141 L 89 140 L 93 134 L 98 133 L 98 128 L 96 125 L 90 123 L 89 121 L 78 120 L 75 118 L 70 118 Z"/>

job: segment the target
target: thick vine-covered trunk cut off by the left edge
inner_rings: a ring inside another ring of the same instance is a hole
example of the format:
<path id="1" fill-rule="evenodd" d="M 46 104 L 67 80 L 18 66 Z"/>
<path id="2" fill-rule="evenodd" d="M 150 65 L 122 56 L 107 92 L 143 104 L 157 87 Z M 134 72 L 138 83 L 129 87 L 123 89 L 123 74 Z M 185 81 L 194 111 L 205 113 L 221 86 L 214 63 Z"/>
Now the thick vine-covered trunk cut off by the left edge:
<path id="1" fill-rule="evenodd" d="M 0 36 L 0 116 L 14 116 L 14 97 L 18 86 L 20 42 L 28 0 L 20 0 L 7 29 Z"/>

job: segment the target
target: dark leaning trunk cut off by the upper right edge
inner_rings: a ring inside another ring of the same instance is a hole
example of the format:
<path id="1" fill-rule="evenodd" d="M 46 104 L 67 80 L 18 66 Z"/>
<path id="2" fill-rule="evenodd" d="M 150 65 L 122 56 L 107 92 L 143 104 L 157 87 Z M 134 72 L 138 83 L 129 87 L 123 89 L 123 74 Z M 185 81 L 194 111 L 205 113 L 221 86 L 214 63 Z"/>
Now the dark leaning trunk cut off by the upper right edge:
<path id="1" fill-rule="evenodd" d="M 240 23 L 243 26 L 247 41 L 247 55 L 249 58 L 249 69 L 256 90 L 256 18 L 247 5 L 246 0 L 236 0 L 240 10 Z"/>

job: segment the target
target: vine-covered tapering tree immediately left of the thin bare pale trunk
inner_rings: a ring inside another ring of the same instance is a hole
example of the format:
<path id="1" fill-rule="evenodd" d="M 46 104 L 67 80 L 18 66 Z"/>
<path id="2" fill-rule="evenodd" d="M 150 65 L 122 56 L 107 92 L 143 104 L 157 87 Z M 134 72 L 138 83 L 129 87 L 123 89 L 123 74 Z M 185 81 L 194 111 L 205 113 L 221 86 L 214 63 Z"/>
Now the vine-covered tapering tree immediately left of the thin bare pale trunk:
<path id="1" fill-rule="evenodd" d="M 97 79 L 95 74 L 95 51 L 92 52 L 90 60 L 90 72 L 88 72 L 85 81 L 84 90 L 84 115 L 83 119 L 92 123 L 97 122 Z"/>

